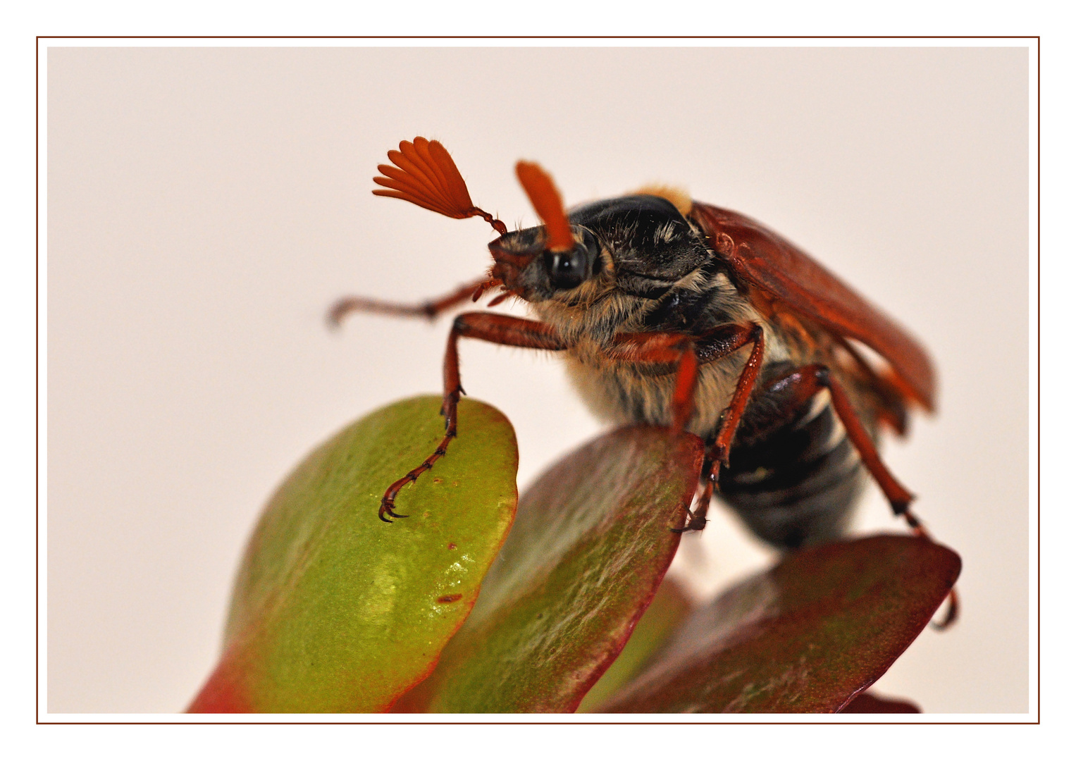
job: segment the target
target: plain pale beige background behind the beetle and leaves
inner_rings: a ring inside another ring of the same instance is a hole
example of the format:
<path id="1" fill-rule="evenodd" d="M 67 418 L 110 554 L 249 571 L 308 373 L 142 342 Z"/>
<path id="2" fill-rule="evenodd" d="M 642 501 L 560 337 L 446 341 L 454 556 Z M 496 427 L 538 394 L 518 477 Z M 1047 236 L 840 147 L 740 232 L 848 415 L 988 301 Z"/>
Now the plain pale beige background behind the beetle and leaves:
<path id="1" fill-rule="evenodd" d="M 1025 50 L 54 47 L 47 76 L 49 711 L 182 709 L 277 482 L 357 415 L 438 392 L 447 325 L 323 324 L 341 294 L 419 299 L 486 265 L 481 222 L 370 195 L 415 135 L 509 224 L 534 223 L 521 157 L 568 202 L 682 184 L 921 337 L 940 414 L 884 453 L 963 555 L 964 616 L 879 690 L 1028 709 Z M 522 484 L 599 429 L 554 358 L 463 351 Z M 901 524 L 872 491 L 875 529 Z M 676 572 L 703 594 L 766 559 L 723 519 Z"/>

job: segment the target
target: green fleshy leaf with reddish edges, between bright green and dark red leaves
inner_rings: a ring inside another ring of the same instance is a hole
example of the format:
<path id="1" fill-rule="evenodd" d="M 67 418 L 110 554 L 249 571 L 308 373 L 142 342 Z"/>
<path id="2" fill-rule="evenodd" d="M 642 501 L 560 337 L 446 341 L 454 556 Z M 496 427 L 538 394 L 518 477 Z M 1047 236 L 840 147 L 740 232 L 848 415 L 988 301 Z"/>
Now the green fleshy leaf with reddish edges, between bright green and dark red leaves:
<path id="1" fill-rule="evenodd" d="M 665 576 L 702 461 L 695 436 L 634 427 L 548 470 L 473 615 L 395 710 L 575 710 Z"/>

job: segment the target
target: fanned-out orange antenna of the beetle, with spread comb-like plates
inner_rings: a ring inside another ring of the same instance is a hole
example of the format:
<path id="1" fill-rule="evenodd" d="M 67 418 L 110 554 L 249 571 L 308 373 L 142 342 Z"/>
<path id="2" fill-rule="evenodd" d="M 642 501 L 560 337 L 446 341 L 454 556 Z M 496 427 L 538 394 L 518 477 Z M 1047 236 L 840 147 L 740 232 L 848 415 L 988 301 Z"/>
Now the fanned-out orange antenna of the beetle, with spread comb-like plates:
<path id="1" fill-rule="evenodd" d="M 384 177 L 373 181 L 391 189 L 378 188 L 373 195 L 402 198 L 454 220 L 481 216 L 500 235 L 508 232 L 504 222 L 475 206 L 456 163 L 436 140 L 404 140 L 399 151 L 388 152 L 388 160 L 396 166 L 379 164 L 378 171 Z"/>

